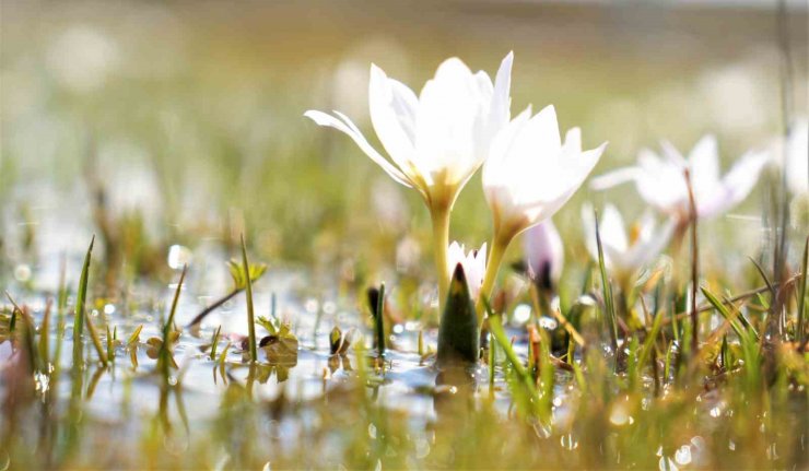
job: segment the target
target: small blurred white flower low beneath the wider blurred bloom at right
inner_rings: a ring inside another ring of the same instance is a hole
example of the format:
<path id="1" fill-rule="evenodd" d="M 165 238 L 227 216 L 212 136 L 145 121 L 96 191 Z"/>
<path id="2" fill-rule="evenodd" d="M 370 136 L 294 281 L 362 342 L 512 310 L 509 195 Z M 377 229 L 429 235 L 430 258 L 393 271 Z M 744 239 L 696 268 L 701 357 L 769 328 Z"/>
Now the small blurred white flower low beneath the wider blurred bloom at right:
<path id="1" fill-rule="evenodd" d="M 587 250 L 598 261 L 598 242 L 596 240 L 596 219 L 593 207 L 582 207 Z M 626 235 L 621 213 L 612 204 L 607 204 L 598 224 L 603 249 L 603 263 L 618 278 L 626 280 L 652 262 L 668 244 L 675 232 L 676 222 L 668 222 L 655 229 L 655 219 L 646 213 L 638 225 L 633 226 Z"/>

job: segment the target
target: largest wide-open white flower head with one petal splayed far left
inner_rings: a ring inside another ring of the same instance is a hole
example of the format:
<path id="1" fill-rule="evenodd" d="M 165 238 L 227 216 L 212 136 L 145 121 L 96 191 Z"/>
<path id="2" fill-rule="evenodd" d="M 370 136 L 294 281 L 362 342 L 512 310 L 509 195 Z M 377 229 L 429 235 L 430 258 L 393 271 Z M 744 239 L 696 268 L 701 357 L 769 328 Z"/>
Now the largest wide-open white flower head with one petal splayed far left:
<path id="1" fill-rule="evenodd" d="M 418 97 L 372 64 L 371 122 L 390 161 L 345 115 L 309 110 L 305 116 L 348 134 L 394 180 L 415 188 L 431 209 L 452 208 L 508 122 L 512 60 L 512 54 L 503 59 L 492 84 L 485 72 L 472 73 L 460 59 L 447 59 Z"/>

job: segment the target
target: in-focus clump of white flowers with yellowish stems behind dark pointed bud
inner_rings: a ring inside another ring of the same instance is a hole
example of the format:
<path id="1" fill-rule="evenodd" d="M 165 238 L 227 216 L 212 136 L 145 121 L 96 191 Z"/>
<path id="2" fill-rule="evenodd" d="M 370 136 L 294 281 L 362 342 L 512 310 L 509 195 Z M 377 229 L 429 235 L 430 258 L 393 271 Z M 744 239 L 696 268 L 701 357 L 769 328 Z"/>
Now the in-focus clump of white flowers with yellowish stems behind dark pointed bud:
<path id="1" fill-rule="evenodd" d="M 537 115 L 528 107 L 511 119 L 512 62 L 508 54 L 492 82 L 485 72 L 472 72 L 459 59 L 447 59 L 418 96 L 372 64 L 371 122 L 389 158 L 339 111 L 305 114 L 318 125 L 348 134 L 394 180 L 419 191 L 433 221 L 439 303 L 459 262 L 472 295 L 489 296 L 511 242 L 553 215 L 603 152 L 605 145 L 584 151 L 576 128 L 563 142 L 553 106 Z M 465 256 L 462 246 L 449 245 L 448 237 L 455 200 L 481 165 L 494 222 L 488 259 L 485 246 Z M 481 317 L 480 306 L 478 311 Z"/>

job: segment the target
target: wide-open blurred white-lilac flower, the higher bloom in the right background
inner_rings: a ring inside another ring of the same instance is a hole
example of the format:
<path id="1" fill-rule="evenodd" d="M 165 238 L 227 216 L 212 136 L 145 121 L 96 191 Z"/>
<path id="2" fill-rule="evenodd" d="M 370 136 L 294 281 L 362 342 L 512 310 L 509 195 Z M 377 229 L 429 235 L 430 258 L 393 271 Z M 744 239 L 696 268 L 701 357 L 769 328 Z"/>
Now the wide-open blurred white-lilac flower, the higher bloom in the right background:
<path id="1" fill-rule="evenodd" d="M 719 178 L 719 156 L 713 136 L 702 138 L 688 160 L 670 143 L 663 142 L 661 146 L 663 156 L 644 149 L 637 156 L 636 166 L 594 178 L 591 187 L 600 190 L 634 180 L 637 192 L 647 203 L 683 221 L 690 213 L 684 176 L 688 168 L 696 213 L 708 219 L 741 202 L 752 190 L 769 158 L 763 152 L 748 152 Z"/>

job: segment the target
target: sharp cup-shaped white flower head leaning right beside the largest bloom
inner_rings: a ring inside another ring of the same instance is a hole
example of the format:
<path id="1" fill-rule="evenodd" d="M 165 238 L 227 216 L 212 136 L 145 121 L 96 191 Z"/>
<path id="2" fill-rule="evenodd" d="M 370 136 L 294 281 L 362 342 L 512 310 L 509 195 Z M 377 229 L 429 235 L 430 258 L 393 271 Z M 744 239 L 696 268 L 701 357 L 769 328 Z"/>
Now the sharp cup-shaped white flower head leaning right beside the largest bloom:
<path id="1" fill-rule="evenodd" d="M 511 239 L 552 216 L 582 186 L 607 144 L 582 151 L 578 128 L 559 134 L 556 111 L 530 107 L 492 143 L 483 165 L 483 191 L 494 214 L 495 237 Z"/>

